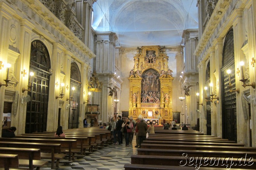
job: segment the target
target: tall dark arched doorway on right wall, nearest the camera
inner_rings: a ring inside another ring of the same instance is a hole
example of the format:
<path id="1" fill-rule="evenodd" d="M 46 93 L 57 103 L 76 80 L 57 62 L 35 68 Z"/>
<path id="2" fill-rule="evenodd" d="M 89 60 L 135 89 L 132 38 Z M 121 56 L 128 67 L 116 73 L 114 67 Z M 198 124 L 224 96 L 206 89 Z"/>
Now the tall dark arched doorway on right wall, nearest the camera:
<path id="1" fill-rule="evenodd" d="M 233 89 L 236 89 L 233 29 L 230 29 L 226 35 L 222 56 L 222 137 L 224 139 L 237 141 L 236 92 L 229 92 L 229 78 L 227 74 L 227 70 L 231 70 L 231 85 L 233 85 Z"/>

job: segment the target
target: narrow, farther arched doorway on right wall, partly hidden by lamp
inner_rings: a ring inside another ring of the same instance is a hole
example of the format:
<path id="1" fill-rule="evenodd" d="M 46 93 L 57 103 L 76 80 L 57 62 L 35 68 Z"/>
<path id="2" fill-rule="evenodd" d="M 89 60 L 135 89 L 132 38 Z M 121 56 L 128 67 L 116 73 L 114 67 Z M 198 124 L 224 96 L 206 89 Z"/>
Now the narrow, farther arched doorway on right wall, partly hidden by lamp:
<path id="1" fill-rule="evenodd" d="M 210 61 L 206 67 L 206 74 L 205 74 L 205 85 L 209 85 L 211 82 L 211 75 L 210 75 Z M 210 89 L 207 89 L 207 96 L 210 96 Z M 212 135 L 212 117 L 211 117 L 211 101 L 206 101 L 206 134 Z"/>

